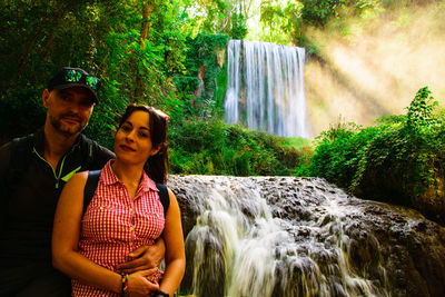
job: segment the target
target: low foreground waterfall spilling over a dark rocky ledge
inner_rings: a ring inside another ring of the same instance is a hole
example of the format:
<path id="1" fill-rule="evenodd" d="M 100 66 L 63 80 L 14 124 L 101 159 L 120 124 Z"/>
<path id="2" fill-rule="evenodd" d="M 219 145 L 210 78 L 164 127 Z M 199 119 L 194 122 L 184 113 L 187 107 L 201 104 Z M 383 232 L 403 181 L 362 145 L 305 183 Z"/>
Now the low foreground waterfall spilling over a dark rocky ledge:
<path id="1" fill-rule="evenodd" d="M 319 178 L 170 176 L 181 290 L 199 297 L 445 296 L 445 228 Z"/>

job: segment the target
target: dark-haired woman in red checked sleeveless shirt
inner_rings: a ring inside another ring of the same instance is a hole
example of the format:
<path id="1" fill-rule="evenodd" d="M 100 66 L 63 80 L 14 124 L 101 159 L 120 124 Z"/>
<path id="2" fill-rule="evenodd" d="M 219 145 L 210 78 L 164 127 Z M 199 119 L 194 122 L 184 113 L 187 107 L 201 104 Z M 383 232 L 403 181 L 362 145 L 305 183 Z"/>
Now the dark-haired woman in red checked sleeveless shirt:
<path id="1" fill-rule="evenodd" d="M 115 138 L 116 160 L 101 170 L 96 194 L 82 217 L 88 172 L 75 175 L 60 196 L 52 234 L 53 266 L 72 278 L 73 296 L 172 296 L 185 270 L 179 206 L 169 190 L 166 218 L 156 185 L 168 167 L 168 117 L 129 106 Z M 117 265 L 139 246 L 162 235 L 166 269 L 119 275 Z"/>

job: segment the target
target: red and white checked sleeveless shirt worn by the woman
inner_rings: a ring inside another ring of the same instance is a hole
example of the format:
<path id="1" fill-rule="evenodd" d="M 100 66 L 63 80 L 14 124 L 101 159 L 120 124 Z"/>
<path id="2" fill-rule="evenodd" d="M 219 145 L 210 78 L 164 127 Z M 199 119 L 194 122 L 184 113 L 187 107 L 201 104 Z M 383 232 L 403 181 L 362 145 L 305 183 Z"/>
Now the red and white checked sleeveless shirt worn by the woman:
<path id="1" fill-rule="evenodd" d="M 91 202 L 81 220 L 79 253 L 110 270 L 129 260 L 128 254 L 152 245 L 162 234 L 165 217 L 155 182 L 144 172 L 135 199 L 111 169 L 102 169 Z M 72 296 L 119 296 L 72 280 Z"/>

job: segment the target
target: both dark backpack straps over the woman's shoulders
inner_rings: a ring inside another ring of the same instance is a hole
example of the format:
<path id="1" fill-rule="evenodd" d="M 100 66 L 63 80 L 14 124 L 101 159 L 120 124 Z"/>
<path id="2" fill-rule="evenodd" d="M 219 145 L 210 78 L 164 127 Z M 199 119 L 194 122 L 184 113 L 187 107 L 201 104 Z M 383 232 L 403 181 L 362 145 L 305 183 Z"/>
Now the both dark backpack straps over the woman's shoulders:
<path id="1" fill-rule="evenodd" d="M 90 204 L 92 197 L 95 196 L 97 186 L 99 184 L 100 172 L 101 172 L 101 170 L 92 170 L 92 171 L 88 172 L 87 184 L 85 185 L 85 188 L 83 188 L 82 215 L 87 210 L 88 205 Z M 159 195 L 160 202 L 162 204 L 162 207 L 164 207 L 164 217 L 166 217 L 168 207 L 170 206 L 170 197 L 168 196 L 167 186 L 156 182 L 156 187 L 159 190 L 158 195 Z"/>

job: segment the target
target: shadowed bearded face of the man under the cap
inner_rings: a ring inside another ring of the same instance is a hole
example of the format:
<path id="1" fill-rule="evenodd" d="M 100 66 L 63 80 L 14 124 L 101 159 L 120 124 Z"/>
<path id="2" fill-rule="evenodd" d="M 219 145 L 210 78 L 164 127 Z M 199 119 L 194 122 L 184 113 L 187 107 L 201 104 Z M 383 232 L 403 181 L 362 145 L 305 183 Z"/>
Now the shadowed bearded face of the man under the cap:
<path id="1" fill-rule="evenodd" d="M 47 120 L 60 133 L 75 136 L 81 132 L 90 119 L 95 106 L 92 95 L 81 87 L 43 91 Z"/>

